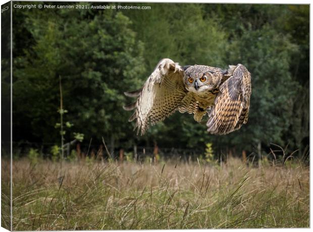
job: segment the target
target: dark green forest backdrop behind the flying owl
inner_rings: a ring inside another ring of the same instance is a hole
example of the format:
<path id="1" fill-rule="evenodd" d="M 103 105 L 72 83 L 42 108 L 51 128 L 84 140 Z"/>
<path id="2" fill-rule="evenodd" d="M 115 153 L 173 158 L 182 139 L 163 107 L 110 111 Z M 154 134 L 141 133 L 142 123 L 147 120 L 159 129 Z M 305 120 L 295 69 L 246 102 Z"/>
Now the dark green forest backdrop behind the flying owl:
<path id="1" fill-rule="evenodd" d="M 195 158 L 208 148 L 216 158 L 242 151 L 262 156 L 276 145 L 307 156 L 309 5 L 106 3 L 150 9 L 103 10 L 90 6 L 104 3 L 66 4 L 89 9 L 13 8 L 15 157 L 30 148 L 51 157 L 61 147 L 60 133 L 64 144 L 80 140 L 86 154 L 104 140 L 115 157 L 121 149 L 133 154 L 156 146 L 164 156 Z M 215 136 L 192 115 L 176 112 L 136 136 L 131 113 L 122 108 L 132 99 L 123 92 L 140 88 L 165 57 L 180 65 L 245 65 L 252 76 L 248 123 Z M 9 72 L 3 72 L 3 102 L 9 84 Z M 2 104 L 2 114 L 9 113 Z"/>

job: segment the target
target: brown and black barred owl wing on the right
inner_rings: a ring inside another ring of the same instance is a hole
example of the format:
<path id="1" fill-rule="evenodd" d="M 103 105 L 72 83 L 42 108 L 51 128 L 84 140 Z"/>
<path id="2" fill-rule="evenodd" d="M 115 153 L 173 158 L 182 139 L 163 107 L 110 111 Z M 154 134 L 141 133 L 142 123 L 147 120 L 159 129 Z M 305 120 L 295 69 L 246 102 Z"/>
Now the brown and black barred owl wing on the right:
<path id="1" fill-rule="evenodd" d="M 248 121 L 251 95 L 251 75 L 241 64 L 230 66 L 232 75 L 220 86 L 215 104 L 208 113 L 207 131 L 228 134 Z"/>

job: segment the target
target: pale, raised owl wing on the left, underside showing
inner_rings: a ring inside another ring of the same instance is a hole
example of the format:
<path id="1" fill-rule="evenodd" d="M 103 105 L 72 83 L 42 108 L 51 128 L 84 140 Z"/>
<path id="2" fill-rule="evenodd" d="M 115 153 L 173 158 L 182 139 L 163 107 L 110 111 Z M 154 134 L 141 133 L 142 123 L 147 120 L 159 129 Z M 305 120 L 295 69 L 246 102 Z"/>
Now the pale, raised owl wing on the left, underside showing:
<path id="1" fill-rule="evenodd" d="M 136 102 L 124 106 L 135 109 L 129 122 L 136 120 L 137 134 L 143 135 L 149 125 L 163 121 L 175 112 L 187 93 L 183 82 L 184 70 L 170 59 L 163 59 L 138 91 L 126 92 L 126 96 L 138 97 Z"/>

